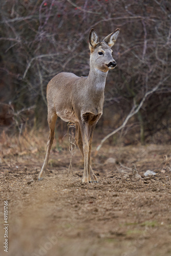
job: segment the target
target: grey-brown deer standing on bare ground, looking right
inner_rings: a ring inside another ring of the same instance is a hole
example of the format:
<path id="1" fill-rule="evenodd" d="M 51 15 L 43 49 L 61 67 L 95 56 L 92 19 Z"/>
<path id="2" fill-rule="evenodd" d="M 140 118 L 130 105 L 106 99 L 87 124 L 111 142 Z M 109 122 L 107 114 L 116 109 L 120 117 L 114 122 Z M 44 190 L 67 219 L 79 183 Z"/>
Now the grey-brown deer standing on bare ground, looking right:
<path id="1" fill-rule="evenodd" d="M 62 72 L 54 76 L 47 86 L 49 138 L 44 164 L 38 180 L 46 173 L 49 155 L 54 139 L 57 117 L 75 124 L 75 141 L 84 161 L 82 183 L 97 182 L 90 165 L 93 132 L 103 112 L 104 88 L 109 70 L 116 67 L 112 47 L 120 29 L 99 41 L 94 29 L 89 36 L 90 71 L 87 77 Z"/>

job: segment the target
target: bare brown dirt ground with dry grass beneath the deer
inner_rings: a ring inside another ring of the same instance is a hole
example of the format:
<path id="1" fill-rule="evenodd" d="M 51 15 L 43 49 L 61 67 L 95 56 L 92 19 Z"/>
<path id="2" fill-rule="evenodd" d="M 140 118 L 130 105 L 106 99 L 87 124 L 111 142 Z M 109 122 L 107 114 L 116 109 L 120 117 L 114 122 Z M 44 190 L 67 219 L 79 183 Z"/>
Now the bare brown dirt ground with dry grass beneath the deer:
<path id="1" fill-rule="evenodd" d="M 93 148 L 99 183 L 83 184 L 78 149 L 73 176 L 67 177 L 67 147 L 53 146 L 49 170 L 38 181 L 45 146 L 39 149 L 38 140 L 29 150 L 18 149 L 14 141 L 1 143 L 1 255 L 171 255 L 170 145 L 106 144 L 96 157 Z M 132 176 L 132 163 L 142 179 Z M 144 176 L 146 170 L 156 175 Z M 8 253 L 3 248 L 6 200 Z"/>

